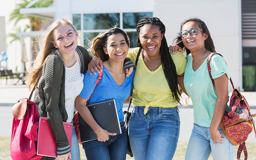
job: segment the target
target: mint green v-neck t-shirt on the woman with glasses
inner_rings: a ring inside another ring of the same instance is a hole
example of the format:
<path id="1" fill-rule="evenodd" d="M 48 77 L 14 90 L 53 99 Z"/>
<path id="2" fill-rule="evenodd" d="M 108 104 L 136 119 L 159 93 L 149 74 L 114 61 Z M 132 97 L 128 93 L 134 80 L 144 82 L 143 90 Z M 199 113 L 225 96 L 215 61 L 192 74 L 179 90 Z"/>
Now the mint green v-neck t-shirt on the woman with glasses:
<path id="1" fill-rule="evenodd" d="M 204 127 L 210 127 L 218 98 L 207 69 L 207 59 L 208 57 L 204 60 L 202 65 L 194 71 L 192 67 L 193 58 L 191 53 L 189 53 L 184 75 L 184 86 L 193 103 L 194 123 Z M 226 74 L 228 79 L 230 78 L 228 66 L 224 58 L 220 55 L 214 54 L 212 56 L 210 66 L 213 79 L 223 74 Z"/>

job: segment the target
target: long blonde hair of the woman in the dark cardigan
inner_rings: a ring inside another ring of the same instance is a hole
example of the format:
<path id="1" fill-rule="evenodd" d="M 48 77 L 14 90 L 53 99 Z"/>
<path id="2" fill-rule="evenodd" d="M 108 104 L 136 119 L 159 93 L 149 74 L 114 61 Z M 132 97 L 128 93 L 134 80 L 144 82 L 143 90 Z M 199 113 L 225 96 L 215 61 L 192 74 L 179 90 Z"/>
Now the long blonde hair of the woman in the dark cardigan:
<path id="1" fill-rule="evenodd" d="M 56 48 L 54 47 L 54 37 L 53 32 L 56 28 L 60 27 L 61 25 L 69 25 L 76 31 L 75 26 L 72 22 L 65 18 L 60 18 L 54 21 L 46 30 L 45 33 L 41 36 L 40 40 L 42 40 L 42 44 L 40 45 L 39 52 L 36 56 L 36 59 L 32 62 L 33 66 L 29 68 L 28 72 L 28 87 L 31 88 L 31 85 L 35 85 L 36 80 L 40 76 L 39 74 L 42 71 L 42 68 L 45 64 L 46 57 L 52 52 L 55 51 Z"/>

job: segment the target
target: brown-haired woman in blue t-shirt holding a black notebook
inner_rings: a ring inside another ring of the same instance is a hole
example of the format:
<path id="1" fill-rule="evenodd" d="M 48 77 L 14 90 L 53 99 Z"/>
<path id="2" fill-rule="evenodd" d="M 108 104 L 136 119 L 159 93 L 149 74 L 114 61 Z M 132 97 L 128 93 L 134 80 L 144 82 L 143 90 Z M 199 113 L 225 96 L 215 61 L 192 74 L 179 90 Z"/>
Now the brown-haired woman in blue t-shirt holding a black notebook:
<path id="1" fill-rule="evenodd" d="M 122 160 L 126 158 L 127 135 L 122 108 L 124 100 L 129 97 L 135 73 L 134 70 L 129 77 L 126 77 L 123 68 L 129 45 L 130 41 L 126 32 L 120 28 L 111 28 L 92 40 L 92 54 L 103 61 L 102 78 L 94 89 L 99 73 L 91 76 L 87 72 L 84 76 L 84 88 L 77 96 L 75 104 L 84 121 L 97 134 L 97 140 L 83 142 L 88 160 Z M 119 122 L 121 122 L 121 134 L 108 132 L 97 124 L 85 105 L 91 94 L 90 103 L 115 99 Z"/>

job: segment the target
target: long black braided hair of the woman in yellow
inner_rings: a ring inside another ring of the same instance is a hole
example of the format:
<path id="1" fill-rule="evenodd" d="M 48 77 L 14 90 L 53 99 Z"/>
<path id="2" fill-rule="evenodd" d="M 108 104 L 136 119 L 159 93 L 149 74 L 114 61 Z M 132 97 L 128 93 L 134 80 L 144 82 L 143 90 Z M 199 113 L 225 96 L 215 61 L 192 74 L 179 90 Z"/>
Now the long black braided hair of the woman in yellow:
<path id="1" fill-rule="evenodd" d="M 161 33 L 163 33 L 163 34 L 165 33 L 165 26 L 159 18 L 144 17 L 142 20 L 140 20 L 138 22 L 138 25 L 136 28 L 137 34 L 138 34 L 137 47 L 140 47 L 140 48 L 143 48 L 142 45 L 140 44 L 140 38 L 139 38 L 140 28 L 143 27 L 144 25 L 158 26 Z M 180 103 L 180 98 L 179 98 L 180 91 L 179 91 L 179 87 L 178 87 L 176 67 L 172 60 L 165 36 L 163 36 L 163 39 L 161 41 L 160 55 L 161 55 L 162 67 L 164 70 L 164 76 L 165 76 L 167 83 L 172 91 L 172 97 Z M 179 93 L 179 95 L 178 95 L 178 93 Z"/>

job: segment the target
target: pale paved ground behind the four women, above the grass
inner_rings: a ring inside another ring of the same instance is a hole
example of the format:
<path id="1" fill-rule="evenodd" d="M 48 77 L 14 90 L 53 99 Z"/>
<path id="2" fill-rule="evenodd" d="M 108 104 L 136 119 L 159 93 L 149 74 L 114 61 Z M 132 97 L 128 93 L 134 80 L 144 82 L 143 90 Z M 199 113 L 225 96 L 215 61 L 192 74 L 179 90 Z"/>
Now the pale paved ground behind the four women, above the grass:
<path id="1" fill-rule="evenodd" d="M 1 80 L 1 79 L 0 79 Z M 232 93 L 230 93 L 232 94 Z M 242 92 L 248 101 L 252 114 L 256 113 L 256 92 Z M 12 106 L 21 98 L 28 98 L 30 92 L 26 85 L 3 85 L 0 84 L 0 136 L 11 136 L 12 129 Z M 185 98 L 185 95 L 182 95 Z M 188 106 L 182 108 L 180 106 L 180 141 L 188 141 L 193 127 L 193 108 L 191 100 L 188 100 Z M 182 101 L 185 104 L 185 101 Z M 124 110 L 127 105 L 124 105 Z M 255 118 L 256 120 L 256 118 Z M 249 142 L 255 142 L 255 135 L 249 135 Z"/>

